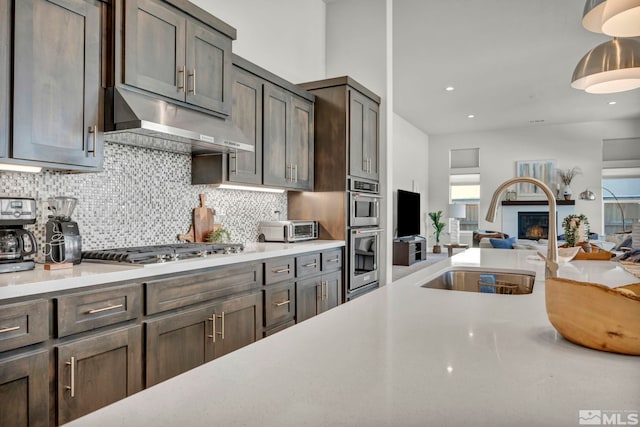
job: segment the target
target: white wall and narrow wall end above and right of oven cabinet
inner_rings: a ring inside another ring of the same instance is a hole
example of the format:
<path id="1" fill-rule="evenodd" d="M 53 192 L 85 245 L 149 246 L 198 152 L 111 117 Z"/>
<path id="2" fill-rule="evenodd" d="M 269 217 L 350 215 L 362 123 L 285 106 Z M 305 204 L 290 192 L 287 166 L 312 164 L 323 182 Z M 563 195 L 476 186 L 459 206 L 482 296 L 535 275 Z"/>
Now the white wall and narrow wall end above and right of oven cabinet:
<path id="1" fill-rule="evenodd" d="M 381 220 L 386 233 L 381 284 L 391 282 L 393 217 L 389 174 L 393 94 L 391 80 L 391 0 L 340 0 L 326 5 L 326 75 L 348 75 L 382 98 L 380 104 Z"/>

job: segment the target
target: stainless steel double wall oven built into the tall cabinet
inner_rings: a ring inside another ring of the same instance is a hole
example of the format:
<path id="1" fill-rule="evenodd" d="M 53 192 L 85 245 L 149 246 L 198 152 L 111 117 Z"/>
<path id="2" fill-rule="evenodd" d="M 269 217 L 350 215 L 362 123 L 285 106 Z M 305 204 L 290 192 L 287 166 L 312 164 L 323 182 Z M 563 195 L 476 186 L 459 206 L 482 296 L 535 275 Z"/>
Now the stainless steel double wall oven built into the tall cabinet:
<path id="1" fill-rule="evenodd" d="M 351 178 L 348 191 L 348 280 L 345 299 L 378 287 L 382 228 L 378 183 Z"/>

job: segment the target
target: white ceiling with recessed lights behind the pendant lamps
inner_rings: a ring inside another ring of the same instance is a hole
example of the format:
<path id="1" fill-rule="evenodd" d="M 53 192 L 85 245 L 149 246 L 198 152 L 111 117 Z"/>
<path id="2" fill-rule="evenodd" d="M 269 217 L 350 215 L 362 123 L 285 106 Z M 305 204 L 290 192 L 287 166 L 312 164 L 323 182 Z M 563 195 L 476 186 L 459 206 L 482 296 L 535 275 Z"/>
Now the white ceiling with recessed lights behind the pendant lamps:
<path id="1" fill-rule="evenodd" d="M 584 0 L 394 0 L 394 111 L 429 135 L 640 120 L 640 89 L 593 95 L 570 86 L 580 58 L 609 39 L 582 28 L 583 7 Z M 446 92 L 449 85 L 455 90 Z"/>

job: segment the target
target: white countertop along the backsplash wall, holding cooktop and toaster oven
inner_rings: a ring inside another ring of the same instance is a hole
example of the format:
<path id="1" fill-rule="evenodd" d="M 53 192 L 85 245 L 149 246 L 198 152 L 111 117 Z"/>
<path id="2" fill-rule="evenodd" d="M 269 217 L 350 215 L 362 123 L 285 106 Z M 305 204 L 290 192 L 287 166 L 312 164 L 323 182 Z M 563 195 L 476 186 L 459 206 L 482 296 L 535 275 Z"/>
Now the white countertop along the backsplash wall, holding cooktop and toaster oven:
<path id="1" fill-rule="evenodd" d="M 241 262 L 260 261 L 266 258 L 290 256 L 304 252 L 323 251 L 344 246 L 342 240 L 309 240 L 296 243 L 251 243 L 240 254 L 211 255 L 182 261 L 132 266 L 83 261 L 73 268 L 45 270 L 37 264 L 34 270 L 0 274 L 0 301 L 61 291 L 85 286 L 135 280 L 199 268 L 218 267 Z"/>

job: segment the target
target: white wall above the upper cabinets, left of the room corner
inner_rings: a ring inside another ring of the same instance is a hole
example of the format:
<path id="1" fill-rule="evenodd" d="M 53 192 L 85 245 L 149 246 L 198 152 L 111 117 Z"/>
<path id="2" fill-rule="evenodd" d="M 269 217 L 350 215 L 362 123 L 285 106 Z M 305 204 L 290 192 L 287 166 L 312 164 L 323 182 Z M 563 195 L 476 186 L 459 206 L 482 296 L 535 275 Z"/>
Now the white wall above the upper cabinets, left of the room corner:
<path id="1" fill-rule="evenodd" d="M 233 52 L 294 83 L 325 77 L 322 0 L 190 0 L 238 31 Z"/>

